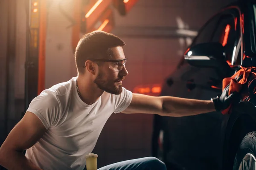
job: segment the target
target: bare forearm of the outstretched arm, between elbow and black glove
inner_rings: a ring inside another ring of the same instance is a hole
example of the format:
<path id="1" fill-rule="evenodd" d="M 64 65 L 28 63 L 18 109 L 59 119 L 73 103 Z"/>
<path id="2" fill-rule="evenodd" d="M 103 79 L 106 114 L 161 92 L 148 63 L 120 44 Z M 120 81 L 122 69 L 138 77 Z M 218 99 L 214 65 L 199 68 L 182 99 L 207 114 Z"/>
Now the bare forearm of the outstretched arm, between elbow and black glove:
<path id="1" fill-rule="evenodd" d="M 212 101 L 184 99 L 171 96 L 161 97 L 163 101 L 163 116 L 192 116 L 215 111 Z"/>

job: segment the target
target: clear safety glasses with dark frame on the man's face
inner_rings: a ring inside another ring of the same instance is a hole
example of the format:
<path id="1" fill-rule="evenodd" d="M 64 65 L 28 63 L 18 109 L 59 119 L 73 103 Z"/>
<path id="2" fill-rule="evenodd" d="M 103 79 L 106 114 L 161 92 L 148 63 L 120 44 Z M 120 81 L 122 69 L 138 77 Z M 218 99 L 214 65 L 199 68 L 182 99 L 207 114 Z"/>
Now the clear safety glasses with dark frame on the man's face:
<path id="1" fill-rule="evenodd" d="M 108 68 L 112 69 L 113 71 L 121 71 L 127 62 L 127 58 L 121 60 L 111 60 L 111 59 L 90 59 L 96 62 L 110 62 Z M 83 66 L 85 68 L 85 65 Z"/>

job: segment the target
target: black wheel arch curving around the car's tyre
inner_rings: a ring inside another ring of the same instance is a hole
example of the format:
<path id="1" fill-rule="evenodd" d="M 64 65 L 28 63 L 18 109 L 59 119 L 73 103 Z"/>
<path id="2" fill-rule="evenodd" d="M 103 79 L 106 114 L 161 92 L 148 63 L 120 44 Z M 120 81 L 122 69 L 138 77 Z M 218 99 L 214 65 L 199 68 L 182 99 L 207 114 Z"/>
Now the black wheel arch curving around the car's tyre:
<path id="1" fill-rule="evenodd" d="M 239 144 L 247 133 L 256 131 L 256 106 L 249 101 L 236 105 L 224 131 L 222 167 L 232 170 Z"/>

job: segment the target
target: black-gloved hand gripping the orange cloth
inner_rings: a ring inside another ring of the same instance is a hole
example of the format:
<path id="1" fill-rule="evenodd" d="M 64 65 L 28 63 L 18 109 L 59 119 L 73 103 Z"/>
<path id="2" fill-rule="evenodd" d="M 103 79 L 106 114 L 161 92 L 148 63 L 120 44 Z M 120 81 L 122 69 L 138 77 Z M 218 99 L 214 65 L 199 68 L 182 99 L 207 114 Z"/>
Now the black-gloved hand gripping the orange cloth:
<path id="1" fill-rule="evenodd" d="M 243 76 L 240 75 L 239 77 L 236 77 L 235 80 L 239 82 L 242 77 Z M 220 97 L 217 96 L 211 99 L 214 103 L 216 111 L 223 111 L 224 109 L 228 108 L 230 104 L 239 103 L 241 101 L 241 95 L 238 92 L 233 92 L 232 94 L 228 95 L 229 88 L 230 84 L 224 88 Z"/>

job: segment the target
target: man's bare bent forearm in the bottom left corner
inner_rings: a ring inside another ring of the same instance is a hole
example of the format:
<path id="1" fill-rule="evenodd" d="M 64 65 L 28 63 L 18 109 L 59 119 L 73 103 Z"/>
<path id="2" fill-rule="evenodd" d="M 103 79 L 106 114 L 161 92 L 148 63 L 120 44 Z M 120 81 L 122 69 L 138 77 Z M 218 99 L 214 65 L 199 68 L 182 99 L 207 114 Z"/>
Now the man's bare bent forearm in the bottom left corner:
<path id="1" fill-rule="evenodd" d="M 42 170 L 18 151 L 0 152 L 0 165 L 8 170 Z"/>

